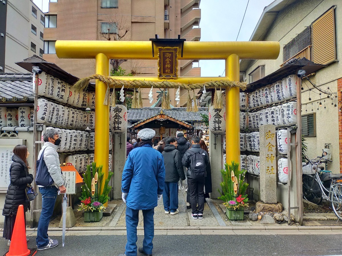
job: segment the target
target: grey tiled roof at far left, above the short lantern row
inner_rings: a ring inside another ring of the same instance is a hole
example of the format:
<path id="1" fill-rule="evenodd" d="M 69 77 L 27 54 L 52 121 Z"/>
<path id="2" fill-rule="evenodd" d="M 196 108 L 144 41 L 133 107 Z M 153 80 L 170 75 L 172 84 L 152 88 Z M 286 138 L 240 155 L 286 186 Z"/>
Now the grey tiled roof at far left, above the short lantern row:
<path id="1" fill-rule="evenodd" d="M 0 74 L 0 99 L 6 101 L 34 101 L 32 74 Z"/>

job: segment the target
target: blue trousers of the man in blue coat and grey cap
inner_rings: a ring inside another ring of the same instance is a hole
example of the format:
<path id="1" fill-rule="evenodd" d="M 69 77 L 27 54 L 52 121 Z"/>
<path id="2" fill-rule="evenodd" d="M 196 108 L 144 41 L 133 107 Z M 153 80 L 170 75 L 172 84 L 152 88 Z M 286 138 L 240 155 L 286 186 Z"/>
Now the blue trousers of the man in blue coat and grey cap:
<path id="1" fill-rule="evenodd" d="M 144 241 L 143 250 L 147 254 L 152 254 L 153 250 L 153 237 L 154 237 L 154 208 L 149 210 L 142 210 L 144 216 Z M 127 229 L 127 244 L 125 254 L 127 256 L 137 255 L 136 241 L 136 227 L 139 222 L 139 210 L 134 210 L 126 207 L 126 229 Z"/>

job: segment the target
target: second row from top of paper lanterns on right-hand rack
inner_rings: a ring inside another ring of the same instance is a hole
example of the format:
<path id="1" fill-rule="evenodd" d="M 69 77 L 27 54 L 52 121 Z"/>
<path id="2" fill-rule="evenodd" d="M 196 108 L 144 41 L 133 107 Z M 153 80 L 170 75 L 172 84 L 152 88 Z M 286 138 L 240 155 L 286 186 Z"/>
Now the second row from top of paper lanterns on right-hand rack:
<path id="1" fill-rule="evenodd" d="M 272 124 L 286 127 L 297 124 L 297 102 L 288 102 L 257 112 L 240 112 L 240 129 L 258 129 L 262 125 Z"/>

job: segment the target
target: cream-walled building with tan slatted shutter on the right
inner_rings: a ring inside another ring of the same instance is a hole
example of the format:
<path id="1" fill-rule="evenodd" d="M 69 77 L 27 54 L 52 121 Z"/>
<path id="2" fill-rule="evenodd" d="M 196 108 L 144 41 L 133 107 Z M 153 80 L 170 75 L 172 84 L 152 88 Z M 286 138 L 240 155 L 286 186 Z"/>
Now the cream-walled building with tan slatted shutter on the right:
<path id="1" fill-rule="evenodd" d="M 328 170 L 342 172 L 342 2 L 276 0 L 265 7 L 250 41 L 279 41 L 276 60 L 242 60 L 240 71 L 252 83 L 292 58 L 305 57 L 327 67 L 302 79 L 302 136 L 313 159 L 330 144 Z M 337 96 L 337 97 L 336 97 Z"/>

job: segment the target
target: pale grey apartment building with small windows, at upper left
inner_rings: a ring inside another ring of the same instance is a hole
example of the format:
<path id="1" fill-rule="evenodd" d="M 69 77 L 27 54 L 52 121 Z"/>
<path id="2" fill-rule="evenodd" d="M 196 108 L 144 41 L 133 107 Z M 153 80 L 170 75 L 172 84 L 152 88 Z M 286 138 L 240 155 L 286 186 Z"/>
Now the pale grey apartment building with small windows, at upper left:
<path id="1" fill-rule="evenodd" d="M 15 64 L 44 53 L 44 14 L 31 0 L 0 1 L 0 72 L 27 71 Z"/>

